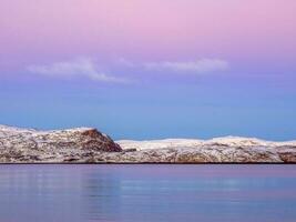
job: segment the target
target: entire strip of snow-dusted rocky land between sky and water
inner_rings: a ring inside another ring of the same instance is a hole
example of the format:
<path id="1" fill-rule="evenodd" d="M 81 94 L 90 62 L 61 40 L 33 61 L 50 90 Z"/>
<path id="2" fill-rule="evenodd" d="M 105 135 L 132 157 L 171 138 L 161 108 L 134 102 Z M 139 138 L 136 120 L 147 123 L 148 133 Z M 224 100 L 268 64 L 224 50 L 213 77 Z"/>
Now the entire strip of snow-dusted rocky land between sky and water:
<path id="1" fill-rule="evenodd" d="M 112 141 L 95 129 L 0 125 L 0 163 L 296 163 L 296 142 L 249 138 Z"/>

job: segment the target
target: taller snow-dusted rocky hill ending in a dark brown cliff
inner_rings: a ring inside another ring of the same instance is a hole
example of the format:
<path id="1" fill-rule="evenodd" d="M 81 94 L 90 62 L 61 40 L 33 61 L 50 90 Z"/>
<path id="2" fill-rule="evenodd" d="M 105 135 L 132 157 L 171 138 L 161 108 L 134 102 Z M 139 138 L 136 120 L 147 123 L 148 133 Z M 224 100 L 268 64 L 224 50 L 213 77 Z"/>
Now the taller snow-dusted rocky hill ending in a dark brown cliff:
<path id="1" fill-rule="evenodd" d="M 0 125 L 0 162 L 80 161 L 95 152 L 121 147 L 95 129 L 37 131 Z"/>

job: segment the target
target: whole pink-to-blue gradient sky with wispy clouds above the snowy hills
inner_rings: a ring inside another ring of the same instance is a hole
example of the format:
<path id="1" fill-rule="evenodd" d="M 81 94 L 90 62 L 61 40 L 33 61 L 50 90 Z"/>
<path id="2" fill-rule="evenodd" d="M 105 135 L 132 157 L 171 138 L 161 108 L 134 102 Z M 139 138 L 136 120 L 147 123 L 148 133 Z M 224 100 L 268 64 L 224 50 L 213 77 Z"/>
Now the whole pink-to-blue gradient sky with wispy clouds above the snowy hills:
<path id="1" fill-rule="evenodd" d="M 296 139 L 295 0 L 1 0 L 0 124 Z"/>

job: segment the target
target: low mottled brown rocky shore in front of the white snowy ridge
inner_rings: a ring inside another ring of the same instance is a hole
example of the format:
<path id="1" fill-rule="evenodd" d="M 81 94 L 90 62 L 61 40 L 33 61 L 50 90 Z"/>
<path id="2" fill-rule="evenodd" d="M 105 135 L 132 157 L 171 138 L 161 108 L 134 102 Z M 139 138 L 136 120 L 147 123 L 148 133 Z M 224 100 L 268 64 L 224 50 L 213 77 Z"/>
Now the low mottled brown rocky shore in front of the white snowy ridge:
<path id="1" fill-rule="evenodd" d="M 296 153 L 296 150 L 294 150 Z M 102 153 L 95 162 L 110 163 L 279 163 L 274 149 L 263 147 L 201 145 Z"/>

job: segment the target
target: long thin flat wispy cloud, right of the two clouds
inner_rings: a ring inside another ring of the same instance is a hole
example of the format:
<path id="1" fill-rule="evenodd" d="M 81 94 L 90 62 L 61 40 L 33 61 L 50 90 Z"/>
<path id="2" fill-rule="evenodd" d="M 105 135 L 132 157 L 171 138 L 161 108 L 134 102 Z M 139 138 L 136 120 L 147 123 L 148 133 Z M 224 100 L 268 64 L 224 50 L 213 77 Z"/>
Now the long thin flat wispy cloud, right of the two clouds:
<path id="1" fill-rule="evenodd" d="M 156 71 L 171 71 L 178 73 L 195 73 L 204 74 L 216 71 L 225 71 L 229 69 L 229 63 L 221 59 L 200 59 L 195 61 L 181 61 L 181 62 L 143 62 L 135 63 L 125 59 L 120 59 L 120 63 L 125 67 L 143 67 L 149 70 Z"/>

